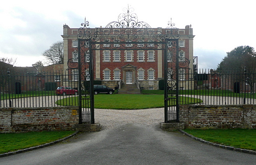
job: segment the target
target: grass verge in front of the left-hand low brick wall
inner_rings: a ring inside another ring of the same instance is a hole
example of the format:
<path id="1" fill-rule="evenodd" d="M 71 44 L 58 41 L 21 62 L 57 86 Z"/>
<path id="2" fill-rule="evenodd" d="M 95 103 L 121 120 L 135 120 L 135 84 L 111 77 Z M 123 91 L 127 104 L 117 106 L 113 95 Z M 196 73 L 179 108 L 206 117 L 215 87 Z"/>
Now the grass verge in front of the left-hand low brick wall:
<path id="1" fill-rule="evenodd" d="M 27 133 L 0 133 L 0 154 L 50 143 L 75 131 L 42 131 Z"/>

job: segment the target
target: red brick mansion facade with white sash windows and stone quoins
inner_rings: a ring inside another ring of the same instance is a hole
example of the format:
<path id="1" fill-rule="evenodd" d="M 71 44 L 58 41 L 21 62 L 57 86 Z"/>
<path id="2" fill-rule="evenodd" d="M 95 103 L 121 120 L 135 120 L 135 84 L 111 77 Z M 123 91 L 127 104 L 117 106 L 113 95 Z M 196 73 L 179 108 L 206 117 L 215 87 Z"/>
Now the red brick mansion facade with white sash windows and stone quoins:
<path id="1" fill-rule="evenodd" d="M 96 29 L 98 28 L 92 29 L 92 31 L 94 32 Z M 107 31 L 108 28 L 104 28 L 104 30 Z M 130 30 L 136 31 L 136 28 L 130 28 Z M 152 28 L 152 30 L 165 34 L 168 29 Z M 77 34 L 78 28 L 69 28 L 68 25 L 63 26 L 64 69 L 68 69 L 68 66 L 66 66 L 68 60 L 73 58 L 74 61 L 74 52 L 77 51 L 78 46 Z M 192 28 L 186 26 L 185 29 L 178 29 L 178 34 L 180 35 L 179 51 L 183 52 L 184 58 L 193 61 L 194 36 Z M 106 53 L 106 58 L 105 52 L 108 52 Z M 115 52 L 119 52 L 119 60 L 115 59 Z M 126 56 L 128 56 L 129 52 L 131 52 L 131 55 L 127 60 Z M 139 60 L 139 52 L 142 52 L 140 54 L 143 54 L 143 60 L 141 58 Z M 128 48 L 127 50 L 93 50 L 92 54 L 94 59 L 94 80 L 102 80 L 109 87 L 117 87 L 118 83 L 136 83 L 137 85 L 139 83 L 144 89 L 159 89 L 158 82 L 164 78 L 164 50 L 129 50 Z M 174 63 L 172 66 L 175 68 Z M 193 65 L 190 64 L 187 68 L 193 70 Z M 118 76 L 115 77 L 115 72 L 117 75 L 119 72 L 119 78 Z M 127 72 L 131 73 L 131 78 L 129 77 L 130 73 Z M 188 80 L 188 77 L 185 77 L 185 79 Z"/>

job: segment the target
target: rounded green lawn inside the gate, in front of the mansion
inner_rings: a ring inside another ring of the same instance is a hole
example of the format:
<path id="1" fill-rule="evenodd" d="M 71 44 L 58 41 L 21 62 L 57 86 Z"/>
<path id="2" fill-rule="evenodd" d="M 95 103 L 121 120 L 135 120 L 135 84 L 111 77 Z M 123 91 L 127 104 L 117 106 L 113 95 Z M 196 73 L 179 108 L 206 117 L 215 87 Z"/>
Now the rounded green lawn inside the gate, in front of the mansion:
<path id="1" fill-rule="evenodd" d="M 183 104 L 202 102 L 200 99 L 180 97 Z M 56 101 L 58 105 L 78 105 L 78 97 L 68 97 Z M 84 107 L 86 103 L 83 103 Z M 175 105 L 175 102 L 172 102 Z M 89 106 L 89 105 L 87 105 Z M 147 109 L 164 107 L 164 95 L 141 94 L 98 94 L 94 95 L 94 107 L 100 109 Z"/>

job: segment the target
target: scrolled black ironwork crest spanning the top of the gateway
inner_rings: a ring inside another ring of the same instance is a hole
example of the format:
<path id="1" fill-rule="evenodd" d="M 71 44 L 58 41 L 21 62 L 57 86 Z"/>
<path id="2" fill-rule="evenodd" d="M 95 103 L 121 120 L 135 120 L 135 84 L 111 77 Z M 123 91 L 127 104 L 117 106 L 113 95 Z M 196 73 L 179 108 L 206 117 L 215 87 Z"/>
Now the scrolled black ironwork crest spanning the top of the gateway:
<path id="1" fill-rule="evenodd" d="M 151 28 L 151 26 L 142 21 L 138 21 L 138 17 L 133 8 L 124 8 L 123 11 L 126 13 L 119 14 L 118 21 L 110 22 L 106 28 L 89 28 L 89 22 L 84 21 L 81 24 L 81 28 L 78 29 L 78 39 L 88 39 L 92 42 L 106 42 L 105 45 L 94 46 L 93 49 L 126 49 L 125 47 L 115 48 L 111 42 L 124 43 L 124 42 L 135 42 L 132 48 L 129 49 L 145 49 L 152 46 L 150 44 L 144 44 L 141 46 L 141 42 L 165 42 L 166 39 L 178 39 L 180 34 L 178 34 L 178 29 L 174 27 L 175 24 L 168 22 L 168 27 L 165 32 L 158 28 Z M 110 43 L 109 43 L 110 42 Z M 140 43 L 138 43 L 140 42 Z M 138 45 L 140 44 L 140 45 Z M 164 46 L 158 44 L 153 48 L 162 49 Z"/>

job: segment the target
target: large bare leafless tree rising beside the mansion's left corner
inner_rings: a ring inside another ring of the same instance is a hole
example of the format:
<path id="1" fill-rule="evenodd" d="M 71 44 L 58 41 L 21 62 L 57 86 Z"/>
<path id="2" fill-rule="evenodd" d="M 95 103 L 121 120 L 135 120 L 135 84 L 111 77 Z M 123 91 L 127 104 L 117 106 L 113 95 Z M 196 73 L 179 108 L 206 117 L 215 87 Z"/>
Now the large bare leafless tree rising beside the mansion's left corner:
<path id="1" fill-rule="evenodd" d="M 63 41 L 58 41 L 44 51 L 43 56 L 52 64 L 63 64 L 63 54 Z"/>

